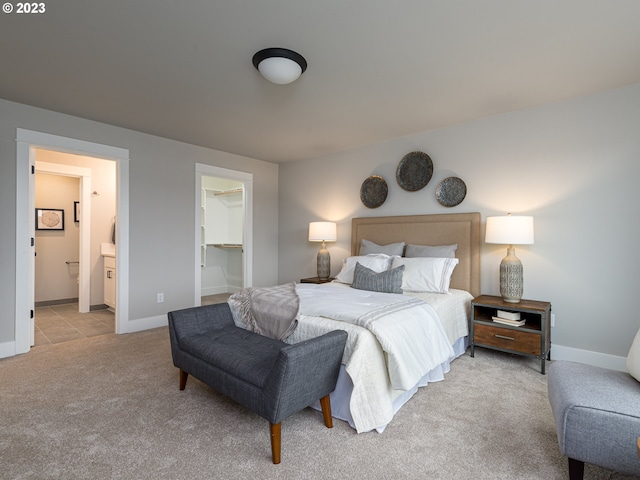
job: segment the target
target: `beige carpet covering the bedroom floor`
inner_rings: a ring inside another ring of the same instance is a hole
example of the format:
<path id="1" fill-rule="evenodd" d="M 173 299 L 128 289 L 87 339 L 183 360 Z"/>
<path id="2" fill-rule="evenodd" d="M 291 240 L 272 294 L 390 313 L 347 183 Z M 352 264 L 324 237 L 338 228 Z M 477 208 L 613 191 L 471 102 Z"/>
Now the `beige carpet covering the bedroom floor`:
<path id="1" fill-rule="evenodd" d="M 0 478 L 568 478 L 538 362 L 476 352 L 382 434 L 290 417 L 273 465 L 266 420 L 193 378 L 179 391 L 166 328 L 36 347 L 0 360 Z"/>

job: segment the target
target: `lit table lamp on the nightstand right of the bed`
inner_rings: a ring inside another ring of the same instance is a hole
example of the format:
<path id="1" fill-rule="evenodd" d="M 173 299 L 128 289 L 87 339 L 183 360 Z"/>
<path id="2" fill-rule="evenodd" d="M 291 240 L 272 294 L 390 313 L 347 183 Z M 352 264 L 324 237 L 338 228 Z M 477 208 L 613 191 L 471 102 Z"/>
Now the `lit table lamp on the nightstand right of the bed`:
<path id="1" fill-rule="evenodd" d="M 505 302 L 518 303 L 523 293 L 522 262 L 514 245 L 533 244 L 533 217 L 506 215 L 487 217 L 485 243 L 509 245 L 500 262 L 500 295 Z"/>

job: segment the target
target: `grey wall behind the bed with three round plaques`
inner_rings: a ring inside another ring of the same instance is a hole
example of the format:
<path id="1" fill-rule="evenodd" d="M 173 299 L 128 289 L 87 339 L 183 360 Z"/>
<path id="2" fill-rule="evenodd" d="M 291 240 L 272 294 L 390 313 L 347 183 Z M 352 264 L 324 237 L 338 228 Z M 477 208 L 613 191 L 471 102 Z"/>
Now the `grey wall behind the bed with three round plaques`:
<path id="1" fill-rule="evenodd" d="M 535 244 L 516 247 L 516 254 L 525 297 L 552 302 L 552 355 L 626 356 L 640 327 L 639 126 L 636 84 L 281 165 L 279 282 L 315 274 L 310 221 L 339 224 L 338 241 L 328 244 L 335 275 L 349 254 L 352 217 L 478 211 L 484 222 L 507 212 L 533 215 Z M 413 150 L 431 155 L 434 176 L 423 190 L 406 192 L 395 169 Z M 371 174 L 389 185 L 377 209 L 364 207 L 359 196 Z M 453 208 L 435 200 L 438 182 L 448 176 L 459 176 L 468 189 Z M 505 254 L 505 246 L 484 245 L 484 293 L 499 292 Z"/>

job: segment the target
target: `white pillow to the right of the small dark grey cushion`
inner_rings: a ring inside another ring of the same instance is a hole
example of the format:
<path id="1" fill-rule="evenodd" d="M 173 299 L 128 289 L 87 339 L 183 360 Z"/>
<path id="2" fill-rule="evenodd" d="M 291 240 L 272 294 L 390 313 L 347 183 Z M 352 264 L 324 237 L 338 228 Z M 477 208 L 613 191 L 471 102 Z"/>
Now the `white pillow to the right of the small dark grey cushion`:
<path id="1" fill-rule="evenodd" d="M 393 257 L 391 268 L 404 265 L 402 290 L 409 292 L 449 293 L 451 274 L 457 258 Z"/>

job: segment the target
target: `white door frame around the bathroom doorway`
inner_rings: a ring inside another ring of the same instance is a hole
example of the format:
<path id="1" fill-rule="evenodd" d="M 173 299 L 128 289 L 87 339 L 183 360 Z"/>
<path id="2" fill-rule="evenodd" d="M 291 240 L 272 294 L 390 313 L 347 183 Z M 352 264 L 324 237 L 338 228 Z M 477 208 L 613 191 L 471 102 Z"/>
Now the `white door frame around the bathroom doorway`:
<path id="1" fill-rule="evenodd" d="M 33 221 L 35 149 L 53 150 L 116 162 L 116 333 L 126 331 L 129 321 L 129 150 L 16 129 L 16 297 L 14 354 L 31 348 L 35 262 Z"/>

